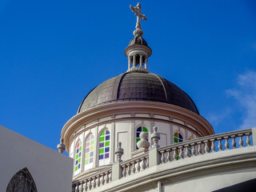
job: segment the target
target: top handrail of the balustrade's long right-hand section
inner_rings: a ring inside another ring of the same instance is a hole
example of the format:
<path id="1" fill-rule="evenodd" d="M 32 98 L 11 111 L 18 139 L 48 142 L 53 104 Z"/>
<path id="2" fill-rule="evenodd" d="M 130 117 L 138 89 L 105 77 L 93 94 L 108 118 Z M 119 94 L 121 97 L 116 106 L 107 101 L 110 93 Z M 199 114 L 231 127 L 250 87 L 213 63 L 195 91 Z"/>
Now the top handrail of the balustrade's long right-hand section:
<path id="1" fill-rule="evenodd" d="M 204 142 L 204 141 L 210 141 L 210 139 L 216 139 L 217 138 L 224 138 L 224 137 L 230 137 L 233 135 L 238 135 L 238 134 L 246 134 L 246 133 L 250 133 L 252 134 L 252 130 L 251 129 L 246 129 L 246 130 L 234 130 L 234 131 L 230 131 L 227 133 L 222 133 L 222 134 L 211 134 L 202 138 L 194 138 L 191 139 L 189 141 L 186 142 L 179 142 L 177 144 L 170 144 L 169 146 L 162 146 L 160 148 L 158 148 L 158 151 L 164 151 L 164 150 L 169 150 L 170 148 L 178 148 L 178 146 L 186 146 L 186 145 L 190 145 L 190 144 L 194 144 L 196 142 Z"/>

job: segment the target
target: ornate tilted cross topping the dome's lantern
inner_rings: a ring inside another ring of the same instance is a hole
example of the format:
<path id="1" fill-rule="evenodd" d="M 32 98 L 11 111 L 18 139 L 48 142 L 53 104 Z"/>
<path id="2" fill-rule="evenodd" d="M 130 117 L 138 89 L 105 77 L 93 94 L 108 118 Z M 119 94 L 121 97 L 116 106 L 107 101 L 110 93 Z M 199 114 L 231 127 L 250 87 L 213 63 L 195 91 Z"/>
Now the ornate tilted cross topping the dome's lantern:
<path id="1" fill-rule="evenodd" d="M 143 30 L 141 26 L 141 19 L 146 20 L 145 14 L 142 14 L 141 11 L 141 4 L 138 2 L 137 6 L 130 6 L 130 10 L 134 12 L 134 14 L 137 16 L 137 22 L 136 22 L 136 30 L 134 30 L 134 36 L 142 36 L 143 35 Z"/>

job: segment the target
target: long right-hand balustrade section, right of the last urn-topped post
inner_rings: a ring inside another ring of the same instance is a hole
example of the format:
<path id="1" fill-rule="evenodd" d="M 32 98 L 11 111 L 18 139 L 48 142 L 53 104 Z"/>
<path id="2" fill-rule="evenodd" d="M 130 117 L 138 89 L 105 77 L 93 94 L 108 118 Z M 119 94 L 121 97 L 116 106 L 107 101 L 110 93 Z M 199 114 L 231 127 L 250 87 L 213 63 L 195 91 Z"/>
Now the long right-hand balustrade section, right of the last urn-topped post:
<path id="1" fill-rule="evenodd" d="M 209 135 L 203 138 L 196 138 L 187 142 L 165 146 L 158 149 L 161 154 L 161 163 L 250 146 L 251 134 L 251 129 L 238 130 L 224 134 Z"/>

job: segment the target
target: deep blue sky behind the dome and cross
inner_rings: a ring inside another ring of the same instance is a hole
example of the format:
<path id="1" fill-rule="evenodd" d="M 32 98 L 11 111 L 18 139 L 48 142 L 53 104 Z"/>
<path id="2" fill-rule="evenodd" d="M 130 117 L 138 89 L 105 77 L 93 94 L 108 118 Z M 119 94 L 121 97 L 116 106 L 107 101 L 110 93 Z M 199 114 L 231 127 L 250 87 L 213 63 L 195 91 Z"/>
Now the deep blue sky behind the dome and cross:
<path id="1" fill-rule="evenodd" d="M 256 2 L 142 0 L 149 70 L 216 133 L 256 126 Z M 136 1 L 0 2 L 0 125 L 55 149 L 86 94 L 126 71 Z"/>

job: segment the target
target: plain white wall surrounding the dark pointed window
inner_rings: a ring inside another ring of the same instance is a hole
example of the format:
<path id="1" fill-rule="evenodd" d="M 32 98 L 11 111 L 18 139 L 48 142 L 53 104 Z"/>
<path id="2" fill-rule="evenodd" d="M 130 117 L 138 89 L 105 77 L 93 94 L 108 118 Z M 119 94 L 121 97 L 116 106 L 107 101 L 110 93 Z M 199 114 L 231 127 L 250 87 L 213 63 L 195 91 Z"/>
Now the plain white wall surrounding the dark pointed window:
<path id="1" fill-rule="evenodd" d="M 38 192 L 71 191 L 72 158 L 3 126 L 0 126 L 0 146 L 0 192 L 5 192 L 10 179 L 25 167 Z"/>

